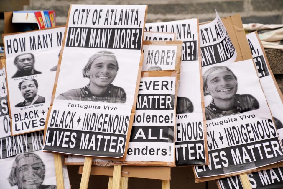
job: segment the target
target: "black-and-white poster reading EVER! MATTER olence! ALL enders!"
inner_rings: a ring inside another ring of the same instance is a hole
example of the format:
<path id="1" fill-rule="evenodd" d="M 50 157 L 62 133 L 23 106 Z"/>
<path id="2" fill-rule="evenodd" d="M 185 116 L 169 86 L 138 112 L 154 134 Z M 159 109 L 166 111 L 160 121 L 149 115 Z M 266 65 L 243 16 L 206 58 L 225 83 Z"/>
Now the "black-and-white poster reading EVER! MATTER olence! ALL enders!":
<path id="1" fill-rule="evenodd" d="M 142 77 L 126 163 L 174 162 L 176 76 Z"/>

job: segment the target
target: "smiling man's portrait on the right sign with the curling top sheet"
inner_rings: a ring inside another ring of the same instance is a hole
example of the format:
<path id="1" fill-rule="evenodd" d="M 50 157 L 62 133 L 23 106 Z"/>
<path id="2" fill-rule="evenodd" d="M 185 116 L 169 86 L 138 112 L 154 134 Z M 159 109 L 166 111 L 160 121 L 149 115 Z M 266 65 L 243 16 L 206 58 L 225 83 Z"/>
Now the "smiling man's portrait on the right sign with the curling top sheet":
<path id="1" fill-rule="evenodd" d="M 236 94 L 238 82 L 226 66 L 214 66 L 203 74 L 204 95 L 212 101 L 205 107 L 206 120 L 235 115 L 259 108 L 259 102 L 250 94 Z"/>

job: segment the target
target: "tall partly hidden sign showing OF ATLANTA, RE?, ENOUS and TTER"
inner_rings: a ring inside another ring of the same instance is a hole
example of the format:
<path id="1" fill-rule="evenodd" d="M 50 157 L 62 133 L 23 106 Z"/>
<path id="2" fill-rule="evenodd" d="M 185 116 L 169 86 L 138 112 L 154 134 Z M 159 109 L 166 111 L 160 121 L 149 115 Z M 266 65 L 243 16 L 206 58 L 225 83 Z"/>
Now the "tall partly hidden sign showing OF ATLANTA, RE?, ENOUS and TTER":
<path id="1" fill-rule="evenodd" d="M 183 41 L 176 110 L 176 165 L 207 164 L 198 19 L 149 23 L 145 29 L 177 33 L 177 40 Z"/>

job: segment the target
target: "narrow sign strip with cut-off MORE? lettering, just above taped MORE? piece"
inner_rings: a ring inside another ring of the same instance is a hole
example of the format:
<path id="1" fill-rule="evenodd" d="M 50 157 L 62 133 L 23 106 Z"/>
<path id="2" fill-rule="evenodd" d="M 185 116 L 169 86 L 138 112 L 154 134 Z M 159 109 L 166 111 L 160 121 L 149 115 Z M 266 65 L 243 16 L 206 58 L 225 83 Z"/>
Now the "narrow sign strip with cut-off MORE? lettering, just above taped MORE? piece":
<path id="1" fill-rule="evenodd" d="M 175 41 L 176 33 L 144 32 L 144 41 Z"/>

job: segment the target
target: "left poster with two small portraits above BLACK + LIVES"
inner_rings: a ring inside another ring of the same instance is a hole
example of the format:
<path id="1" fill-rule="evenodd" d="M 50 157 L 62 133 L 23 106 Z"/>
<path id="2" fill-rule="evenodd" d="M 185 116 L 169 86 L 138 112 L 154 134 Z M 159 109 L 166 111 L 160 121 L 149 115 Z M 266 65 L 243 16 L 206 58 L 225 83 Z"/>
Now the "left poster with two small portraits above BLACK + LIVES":
<path id="1" fill-rule="evenodd" d="M 12 135 L 44 129 L 64 31 L 3 35 Z"/>

